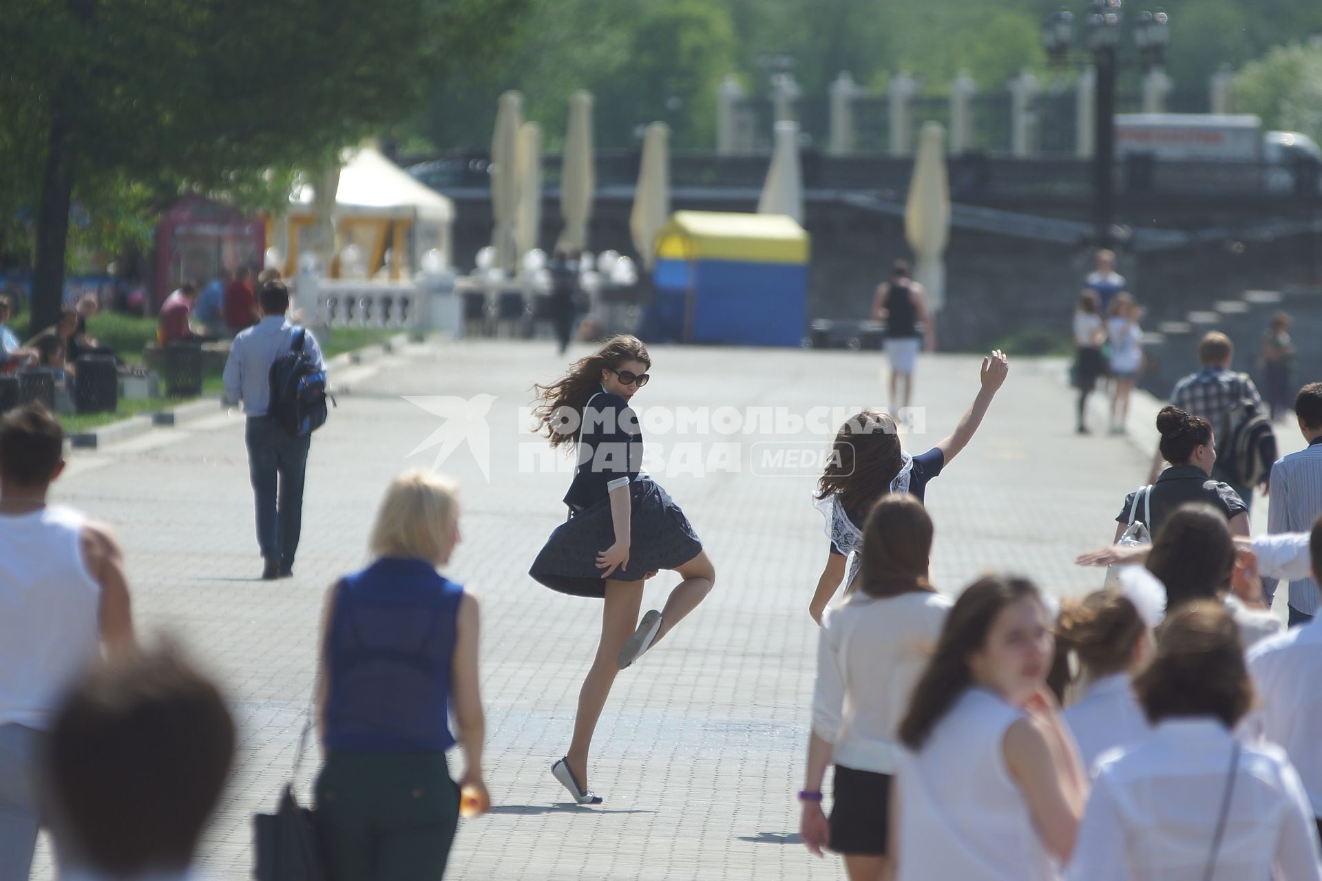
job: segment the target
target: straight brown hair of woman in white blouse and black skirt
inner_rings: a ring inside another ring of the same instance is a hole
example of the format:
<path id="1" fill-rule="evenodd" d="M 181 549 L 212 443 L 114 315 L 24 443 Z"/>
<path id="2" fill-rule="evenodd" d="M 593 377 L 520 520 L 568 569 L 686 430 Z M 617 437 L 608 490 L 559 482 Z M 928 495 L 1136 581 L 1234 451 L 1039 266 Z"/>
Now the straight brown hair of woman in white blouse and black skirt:
<path id="1" fill-rule="evenodd" d="M 888 493 L 876 499 L 863 523 L 858 589 L 876 598 L 932 590 L 927 580 L 932 532 L 932 518 L 914 495 Z"/>

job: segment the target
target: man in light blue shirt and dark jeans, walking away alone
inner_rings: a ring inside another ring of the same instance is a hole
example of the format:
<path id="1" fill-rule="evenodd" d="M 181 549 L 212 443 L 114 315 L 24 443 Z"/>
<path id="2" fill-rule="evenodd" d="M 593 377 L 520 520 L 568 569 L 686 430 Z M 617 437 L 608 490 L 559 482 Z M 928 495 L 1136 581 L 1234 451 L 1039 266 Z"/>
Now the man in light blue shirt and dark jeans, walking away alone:
<path id="1" fill-rule="evenodd" d="M 243 402 L 247 416 L 245 439 L 249 450 L 249 477 L 256 498 L 256 542 L 267 581 L 293 575 L 293 553 L 299 549 L 303 524 L 303 476 L 308 465 L 311 436 L 293 437 L 267 415 L 271 403 L 271 365 L 283 358 L 303 334 L 307 355 L 325 370 L 321 347 L 311 333 L 286 318 L 290 289 L 283 281 L 267 281 L 258 295 L 263 318 L 243 330 L 230 346 L 225 362 L 225 398 Z"/>

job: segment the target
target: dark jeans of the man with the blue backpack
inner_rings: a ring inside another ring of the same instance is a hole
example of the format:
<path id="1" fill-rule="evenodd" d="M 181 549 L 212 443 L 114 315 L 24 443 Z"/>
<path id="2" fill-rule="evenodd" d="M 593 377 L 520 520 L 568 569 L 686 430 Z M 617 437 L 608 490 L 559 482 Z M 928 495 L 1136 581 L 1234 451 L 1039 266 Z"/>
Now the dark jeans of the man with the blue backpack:
<path id="1" fill-rule="evenodd" d="M 312 437 L 290 437 L 266 416 L 251 416 L 245 440 L 256 498 L 258 547 L 263 557 L 288 569 L 303 528 L 303 474 Z"/>

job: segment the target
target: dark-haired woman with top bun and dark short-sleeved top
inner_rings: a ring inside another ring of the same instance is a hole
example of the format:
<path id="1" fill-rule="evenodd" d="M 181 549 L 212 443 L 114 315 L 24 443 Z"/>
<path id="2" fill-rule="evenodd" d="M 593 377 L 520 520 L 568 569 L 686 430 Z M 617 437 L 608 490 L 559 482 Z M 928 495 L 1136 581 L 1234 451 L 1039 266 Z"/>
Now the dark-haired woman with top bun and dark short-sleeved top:
<path id="1" fill-rule="evenodd" d="M 1202 416 L 1186 413 L 1178 407 L 1163 407 L 1157 413 L 1161 432 L 1161 454 L 1170 468 L 1154 483 L 1125 497 L 1125 505 L 1116 515 L 1116 538 L 1134 520 L 1147 524 L 1157 534 L 1166 516 L 1187 502 L 1207 502 L 1225 515 L 1233 535 L 1248 535 L 1248 506 L 1228 483 L 1214 481 L 1216 440 L 1212 425 Z"/>

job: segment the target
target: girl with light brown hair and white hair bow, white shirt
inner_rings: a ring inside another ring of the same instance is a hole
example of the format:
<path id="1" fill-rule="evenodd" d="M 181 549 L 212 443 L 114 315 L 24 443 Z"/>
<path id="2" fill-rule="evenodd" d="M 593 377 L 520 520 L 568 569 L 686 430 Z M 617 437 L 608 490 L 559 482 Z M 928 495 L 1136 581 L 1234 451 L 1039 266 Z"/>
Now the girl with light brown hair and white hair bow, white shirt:
<path id="1" fill-rule="evenodd" d="M 1063 716 L 1084 770 L 1108 749 L 1147 733 L 1132 676 L 1151 652 L 1151 631 L 1137 606 L 1118 590 L 1097 590 L 1066 601 L 1056 623 L 1056 655 L 1079 660 L 1083 697 Z"/>

